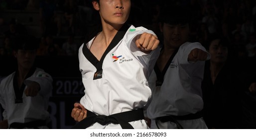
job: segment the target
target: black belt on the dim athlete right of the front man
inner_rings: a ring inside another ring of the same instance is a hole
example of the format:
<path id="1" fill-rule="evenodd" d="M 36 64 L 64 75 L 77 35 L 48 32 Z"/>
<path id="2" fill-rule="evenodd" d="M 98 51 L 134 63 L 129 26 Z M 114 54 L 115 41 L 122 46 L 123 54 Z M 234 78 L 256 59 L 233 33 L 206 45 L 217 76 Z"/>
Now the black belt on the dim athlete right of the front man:
<path id="1" fill-rule="evenodd" d="M 158 117 L 155 119 L 155 124 L 158 127 L 158 121 L 161 122 L 172 122 L 177 125 L 177 129 L 183 129 L 183 127 L 180 125 L 180 123 L 177 120 L 194 120 L 194 119 L 199 119 L 202 117 L 202 112 L 197 112 L 195 114 L 188 114 L 188 115 L 182 115 L 182 116 L 176 116 L 176 115 L 168 115 L 168 116 L 163 116 L 163 117 Z"/>

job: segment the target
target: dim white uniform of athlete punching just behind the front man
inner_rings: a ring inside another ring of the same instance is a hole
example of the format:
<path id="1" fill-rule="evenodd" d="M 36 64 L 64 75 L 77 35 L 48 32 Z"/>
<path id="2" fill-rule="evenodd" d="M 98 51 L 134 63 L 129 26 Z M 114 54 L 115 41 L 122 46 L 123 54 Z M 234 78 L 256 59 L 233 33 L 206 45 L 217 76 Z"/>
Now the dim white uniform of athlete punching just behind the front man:
<path id="1" fill-rule="evenodd" d="M 205 62 L 188 62 L 188 55 L 195 48 L 206 51 L 200 43 L 186 42 L 179 47 L 164 75 L 161 86 L 155 85 L 157 80 L 155 71 L 150 75 L 149 86 L 152 90 L 152 101 L 147 108 L 147 117 L 152 120 L 151 129 L 157 129 L 155 125 L 157 117 L 194 114 L 203 109 L 201 81 Z M 207 59 L 210 59 L 210 55 Z M 206 128 L 202 119 L 178 120 L 178 122 L 184 129 Z M 176 124 L 171 122 L 158 121 L 158 126 L 160 129 L 177 128 Z"/>

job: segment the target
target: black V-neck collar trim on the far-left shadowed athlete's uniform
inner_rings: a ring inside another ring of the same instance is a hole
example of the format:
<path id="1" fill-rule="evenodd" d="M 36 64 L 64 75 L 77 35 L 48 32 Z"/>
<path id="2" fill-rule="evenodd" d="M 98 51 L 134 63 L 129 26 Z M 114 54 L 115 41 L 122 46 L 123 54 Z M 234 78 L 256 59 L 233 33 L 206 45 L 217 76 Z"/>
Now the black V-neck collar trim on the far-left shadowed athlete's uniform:
<path id="1" fill-rule="evenodd" d="M 35 70 L 36 70 L 36 67 L 32 67 L 28 71 L 25 79 L 32 76 L 33 73 L 35 72 Z M 24 89 L 25 89 L 26 85 L 24 84 L 24 82 L 22 82 L 21 87 L 20 88 L 18 87 L 18 77 L 17 77 L 17 75 L 18 75 L 18 70 L 16 70 L 16 72 L 14 74 L 14 77 L 13 77 L 13 88 L 14 88 L 15 97 L 16 97 L 15 98 L 15 103 L 23 103 L 22 95 L 23 95 L 23 92 L 24 92 Z"/>

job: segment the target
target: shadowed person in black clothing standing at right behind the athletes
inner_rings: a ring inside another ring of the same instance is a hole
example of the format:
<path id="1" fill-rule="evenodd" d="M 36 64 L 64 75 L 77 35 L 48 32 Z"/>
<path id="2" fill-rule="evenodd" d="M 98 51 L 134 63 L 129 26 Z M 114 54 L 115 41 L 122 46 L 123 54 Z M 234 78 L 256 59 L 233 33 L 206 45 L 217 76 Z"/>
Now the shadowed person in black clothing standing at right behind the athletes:
<path id="1" fill-rule="evenodd" d="M 217 36 L 209 44 L 210 61 L 206 62 L 202 81 L 204 120 L 209 129 L 241 128 L 242 84 L 238 69 L 229 61 L 230 44 Z"/>

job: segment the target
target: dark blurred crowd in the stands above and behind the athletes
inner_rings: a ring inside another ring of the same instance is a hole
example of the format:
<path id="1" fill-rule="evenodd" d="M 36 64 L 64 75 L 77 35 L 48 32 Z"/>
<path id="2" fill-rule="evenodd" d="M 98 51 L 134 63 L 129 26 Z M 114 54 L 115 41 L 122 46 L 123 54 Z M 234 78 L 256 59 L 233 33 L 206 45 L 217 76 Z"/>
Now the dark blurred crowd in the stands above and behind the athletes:
<path id="1" fill-rule="evenodd" d="M 191 8 L 192 42 L 208 45 L 210 36 L 218 33 L 229 39 L 234 56 L 256 57 L 256 0 L 132 0 L 128 23 L 145 26 L 160 34 L 159 11 L 172 3 Z M 43 56 L 77 55 L 85 36 L 100 22 L 91 0 L 0 0 L 2 14 L 8 10 L 38 12 L 41 36 L 38 55 Z M 10 40 L 15 35 L 29 33 L 26 25 L 15 18 L 6 20 L 1 15 L 0 30 L 0 55 L 11 54 Z M 76 36 L 82 37 L 74 42 Z M 56 38 L 62 39 L 56 41 Z"/>

